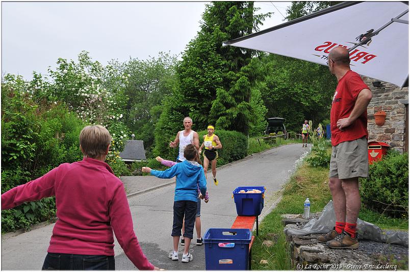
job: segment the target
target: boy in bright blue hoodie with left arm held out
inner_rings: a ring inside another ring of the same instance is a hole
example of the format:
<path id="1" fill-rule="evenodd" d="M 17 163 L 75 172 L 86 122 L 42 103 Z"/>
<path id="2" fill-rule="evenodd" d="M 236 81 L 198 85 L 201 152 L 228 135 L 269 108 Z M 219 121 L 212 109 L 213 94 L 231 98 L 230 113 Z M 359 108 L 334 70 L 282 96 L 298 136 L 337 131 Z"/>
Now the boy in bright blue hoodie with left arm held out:
<path id="1" fill-rule="evenodd" d="M 151 173 L 159 178 L 171 178 L 176 176 L 175 196 L 174 196 L 174 219 L 172 225 L 173 250 L 168 257 L 178 260 L 178 244 L 180 242 L 182 223 L 185 215 L 185 247 L 182 255 L 182 262 L 193 260 L 192 254 L 188 252 L 189 245 L 194 233 L 194 223 L 196 214 L 196 199 L 198 188 L 204 198 L 207 192 L 207 179 L 202 166 L 197 162 L 198 150 L 195 145 L 188 144 L 184 149 L 185 161 L 177 163 L 165 171 L 152 170 L 149 167 L 142 167 L 142 171 Z"/>

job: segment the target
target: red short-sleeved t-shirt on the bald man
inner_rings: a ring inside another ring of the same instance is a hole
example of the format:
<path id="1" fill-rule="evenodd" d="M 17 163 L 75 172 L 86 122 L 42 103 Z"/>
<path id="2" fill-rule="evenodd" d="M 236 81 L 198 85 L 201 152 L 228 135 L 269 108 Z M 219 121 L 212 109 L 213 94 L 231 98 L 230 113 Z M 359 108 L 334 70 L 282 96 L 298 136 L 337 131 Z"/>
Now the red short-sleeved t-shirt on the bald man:
<path id="1" fill-rule="evenodd" d="M 363 136 L 368 137 L 367 110 L 343 131 L 336 126 L 339 119 L 350 116 L 357 96 L 363 89 L 369 89 L 369 87 L 363 82 L 360 75 L 351 70 L 339 80 L 330 110 L 331 144 L 333 146 L 341 142 L 360 139 Z"/>

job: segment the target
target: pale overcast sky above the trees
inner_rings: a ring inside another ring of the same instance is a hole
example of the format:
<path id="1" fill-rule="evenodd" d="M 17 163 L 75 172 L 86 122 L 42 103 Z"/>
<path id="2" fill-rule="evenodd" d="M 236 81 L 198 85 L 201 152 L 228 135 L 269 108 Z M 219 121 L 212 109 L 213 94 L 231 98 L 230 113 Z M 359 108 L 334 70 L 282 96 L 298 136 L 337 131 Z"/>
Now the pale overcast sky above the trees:
<path id="1" fill-rule="evenodd" d="M 59 57 L 76 61 L 82 50 L 103 65 L 180 54 L 199 31 L 206 3 L 2 2 L 2 72 L 31 79 Z M 289 4 L 256 2 L 258 13 L 274 12 L 261 29 L 283 23 Z"/>

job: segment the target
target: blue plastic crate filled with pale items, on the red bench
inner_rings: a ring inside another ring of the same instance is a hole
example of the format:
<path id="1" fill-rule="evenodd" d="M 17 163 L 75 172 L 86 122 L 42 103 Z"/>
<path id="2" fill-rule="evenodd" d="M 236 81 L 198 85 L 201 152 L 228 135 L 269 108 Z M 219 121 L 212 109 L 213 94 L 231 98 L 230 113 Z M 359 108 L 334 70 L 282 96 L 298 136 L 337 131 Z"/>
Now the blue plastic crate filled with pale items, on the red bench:
<path id="1" fill-rule="evenodd" d="M 259 194 L 239 193 L 241 190 L 260 190 Z M 265 198 L 265 187 L 263 186 L 241 186 L 237 187 L 233 194 L 238 216 L 259 216 L 263 209 Z"/>

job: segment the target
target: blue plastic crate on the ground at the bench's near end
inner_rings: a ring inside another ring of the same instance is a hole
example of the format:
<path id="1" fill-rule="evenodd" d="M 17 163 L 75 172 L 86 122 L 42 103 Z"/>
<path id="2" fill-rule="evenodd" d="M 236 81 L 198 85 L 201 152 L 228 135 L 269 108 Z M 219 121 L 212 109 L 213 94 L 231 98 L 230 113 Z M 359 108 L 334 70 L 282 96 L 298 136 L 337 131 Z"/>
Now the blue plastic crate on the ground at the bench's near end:
<path id="1" fill-rule="evenodd" d="M 249 229 L 208 229 L 203 235 L 205 268 L 247 270 L 251 236 Z"/>

